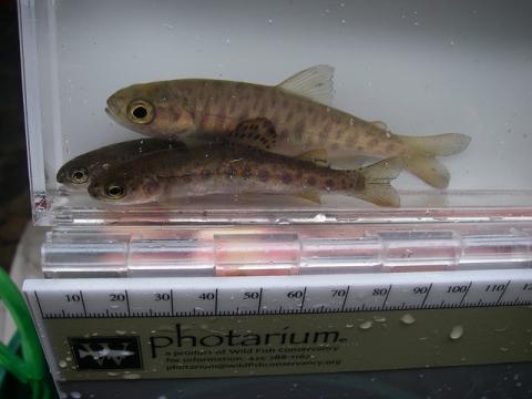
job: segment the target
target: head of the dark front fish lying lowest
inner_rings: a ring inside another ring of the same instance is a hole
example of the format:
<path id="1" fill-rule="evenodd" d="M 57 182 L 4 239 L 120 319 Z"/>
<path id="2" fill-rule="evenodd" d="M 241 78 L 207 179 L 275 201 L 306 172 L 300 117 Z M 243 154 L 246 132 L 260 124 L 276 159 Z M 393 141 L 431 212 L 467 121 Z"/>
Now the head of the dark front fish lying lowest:
<path id="1" fill-rule="evenodd" d="M 106 203 L 135 205 L 156 202 L 162 187 L 155 176 L 117 170 L 96 175 L 89 185 L 89 194 Z M 139 172 L 139 171 L 136 171 Z"/>

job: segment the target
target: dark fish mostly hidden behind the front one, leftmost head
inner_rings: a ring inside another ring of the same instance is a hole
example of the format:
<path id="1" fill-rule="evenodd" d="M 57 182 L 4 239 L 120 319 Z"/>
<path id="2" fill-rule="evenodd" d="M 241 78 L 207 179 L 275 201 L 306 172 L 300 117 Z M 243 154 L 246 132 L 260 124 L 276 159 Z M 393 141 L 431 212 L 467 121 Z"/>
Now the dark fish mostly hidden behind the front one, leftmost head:
<path id="1" fill-rule="evenodd" d="M 115 143 L 90 151 L 66 162 L 57 173 L 58 183 L 72 187 L 86 187 L 93 175 L 109 166 L 133 160 L 154 151 L 185 149 L 185 144 L 167 139 L 139 139 Z"/>

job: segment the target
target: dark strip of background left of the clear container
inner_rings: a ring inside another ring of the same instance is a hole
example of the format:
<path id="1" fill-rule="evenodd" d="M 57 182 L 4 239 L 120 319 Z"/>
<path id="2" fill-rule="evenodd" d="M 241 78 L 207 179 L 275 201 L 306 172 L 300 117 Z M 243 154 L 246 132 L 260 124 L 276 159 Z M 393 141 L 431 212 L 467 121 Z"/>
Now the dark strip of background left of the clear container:
<path id="1" fill-rule="evenodd" d="M 9 269 L 30 219 L 17 2 L 0 0 L 0 267 Z"/>

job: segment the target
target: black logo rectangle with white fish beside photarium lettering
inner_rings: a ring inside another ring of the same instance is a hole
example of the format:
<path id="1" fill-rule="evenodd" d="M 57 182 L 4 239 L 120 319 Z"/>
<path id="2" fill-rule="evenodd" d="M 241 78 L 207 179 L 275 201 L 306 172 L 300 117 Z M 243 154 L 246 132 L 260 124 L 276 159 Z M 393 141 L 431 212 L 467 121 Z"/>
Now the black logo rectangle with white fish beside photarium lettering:
<path id="1" fill-rule="evenodd" d="M 139 337 L 69 338 L 78 370 L 142 368 Z"/>

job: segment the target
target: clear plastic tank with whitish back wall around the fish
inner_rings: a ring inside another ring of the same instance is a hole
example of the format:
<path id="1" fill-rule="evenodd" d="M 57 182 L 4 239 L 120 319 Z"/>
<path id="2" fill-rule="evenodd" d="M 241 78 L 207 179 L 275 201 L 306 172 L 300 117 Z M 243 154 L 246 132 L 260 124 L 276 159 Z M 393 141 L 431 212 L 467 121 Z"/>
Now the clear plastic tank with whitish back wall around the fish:
<path id="1" fill-rule="evenodd" d="M 532 33 L 526 1 L 32 1 L 20 0 L 34 219 L 51 224 L 485 221 L 532 216 Z M 192 198 L 112 206 L 72 193 L 70 158 L 142 135 L 105 101 L 126 85 L 205 78 L 277 84 L 336 70 L 332 106 L 408 135 L 471 137 L 441 157 L 436 190 L 405 172 L 397 209 L 341 195 Z M 324 218 L 325 217 L 325 218 Z"/>

